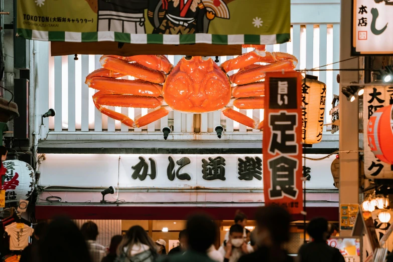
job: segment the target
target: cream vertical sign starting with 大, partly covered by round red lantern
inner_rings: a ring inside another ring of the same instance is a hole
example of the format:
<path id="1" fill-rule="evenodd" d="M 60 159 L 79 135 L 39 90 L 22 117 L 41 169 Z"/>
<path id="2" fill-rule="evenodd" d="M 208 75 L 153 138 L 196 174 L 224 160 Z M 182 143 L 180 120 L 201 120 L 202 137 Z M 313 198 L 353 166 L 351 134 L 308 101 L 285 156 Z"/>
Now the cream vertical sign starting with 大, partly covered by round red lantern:
<path id="1" fill-rule="evenodd" d="M 370 146 L 375 141 L 367 140 L 367 132 L 373 132 L 375 121 L 372 114 L 379 108 L 393 104 L 392 86 L 372 86 L 364 88 L 363 94 L 363 129 L 364 130 L 364 174 L 367 178 L 393 178 L 393 167 L 375 157 Z M 370 120 L 370 121 L 369 121 Z"/>

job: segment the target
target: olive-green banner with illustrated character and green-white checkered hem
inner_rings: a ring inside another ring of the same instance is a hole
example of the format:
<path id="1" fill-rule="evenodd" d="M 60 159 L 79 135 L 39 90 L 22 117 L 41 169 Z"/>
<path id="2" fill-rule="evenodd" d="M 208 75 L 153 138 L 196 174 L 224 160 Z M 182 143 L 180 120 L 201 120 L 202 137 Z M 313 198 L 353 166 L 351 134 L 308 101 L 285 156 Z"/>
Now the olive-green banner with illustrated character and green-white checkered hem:
<path id="1" fill-rule="evenodd" d="M 264 45 L 290 40 L 290 0 L 17 0 L 17 36 L 61 42 Z"/>

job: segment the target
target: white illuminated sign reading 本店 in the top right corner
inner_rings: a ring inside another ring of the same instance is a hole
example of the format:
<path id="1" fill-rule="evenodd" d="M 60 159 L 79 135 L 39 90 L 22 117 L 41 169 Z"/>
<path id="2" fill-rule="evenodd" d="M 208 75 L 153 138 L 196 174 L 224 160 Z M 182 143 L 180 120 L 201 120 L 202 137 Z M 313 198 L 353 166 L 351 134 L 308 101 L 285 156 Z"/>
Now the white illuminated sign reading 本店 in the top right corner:
<path id="1" fill-rule="evenodd" d="M 353 47 L 360 54 L 393 54 L 393 2 L 353 0 Z M 390 22 L 390 23 L 389 23 Z"/>

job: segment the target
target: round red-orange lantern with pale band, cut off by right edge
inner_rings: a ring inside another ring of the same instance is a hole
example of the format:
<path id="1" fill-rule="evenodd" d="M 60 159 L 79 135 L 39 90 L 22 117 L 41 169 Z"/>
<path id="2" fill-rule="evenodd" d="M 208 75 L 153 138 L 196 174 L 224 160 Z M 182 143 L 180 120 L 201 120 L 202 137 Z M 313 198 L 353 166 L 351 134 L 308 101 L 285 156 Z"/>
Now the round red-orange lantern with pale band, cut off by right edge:
<path id="1" fill-rule="evenodd" d="M 381 161 L 393 164 L 392 105 L 375 111 L 367 124 L 367 141 L 371 151 Z"/>

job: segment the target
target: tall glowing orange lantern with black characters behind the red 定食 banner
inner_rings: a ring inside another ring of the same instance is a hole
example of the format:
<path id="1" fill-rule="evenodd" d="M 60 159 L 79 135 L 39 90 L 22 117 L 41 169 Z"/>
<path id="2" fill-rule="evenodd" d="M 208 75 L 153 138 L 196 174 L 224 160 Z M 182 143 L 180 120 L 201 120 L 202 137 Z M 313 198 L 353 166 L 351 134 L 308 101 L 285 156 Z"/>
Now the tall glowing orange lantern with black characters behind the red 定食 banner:
<path id="1" fill-rule="evenodd" d="M 306 75 L 302 81 L 302 142 L 316 144 L 322 140 L 326 85 L 310 75 Z"/>

